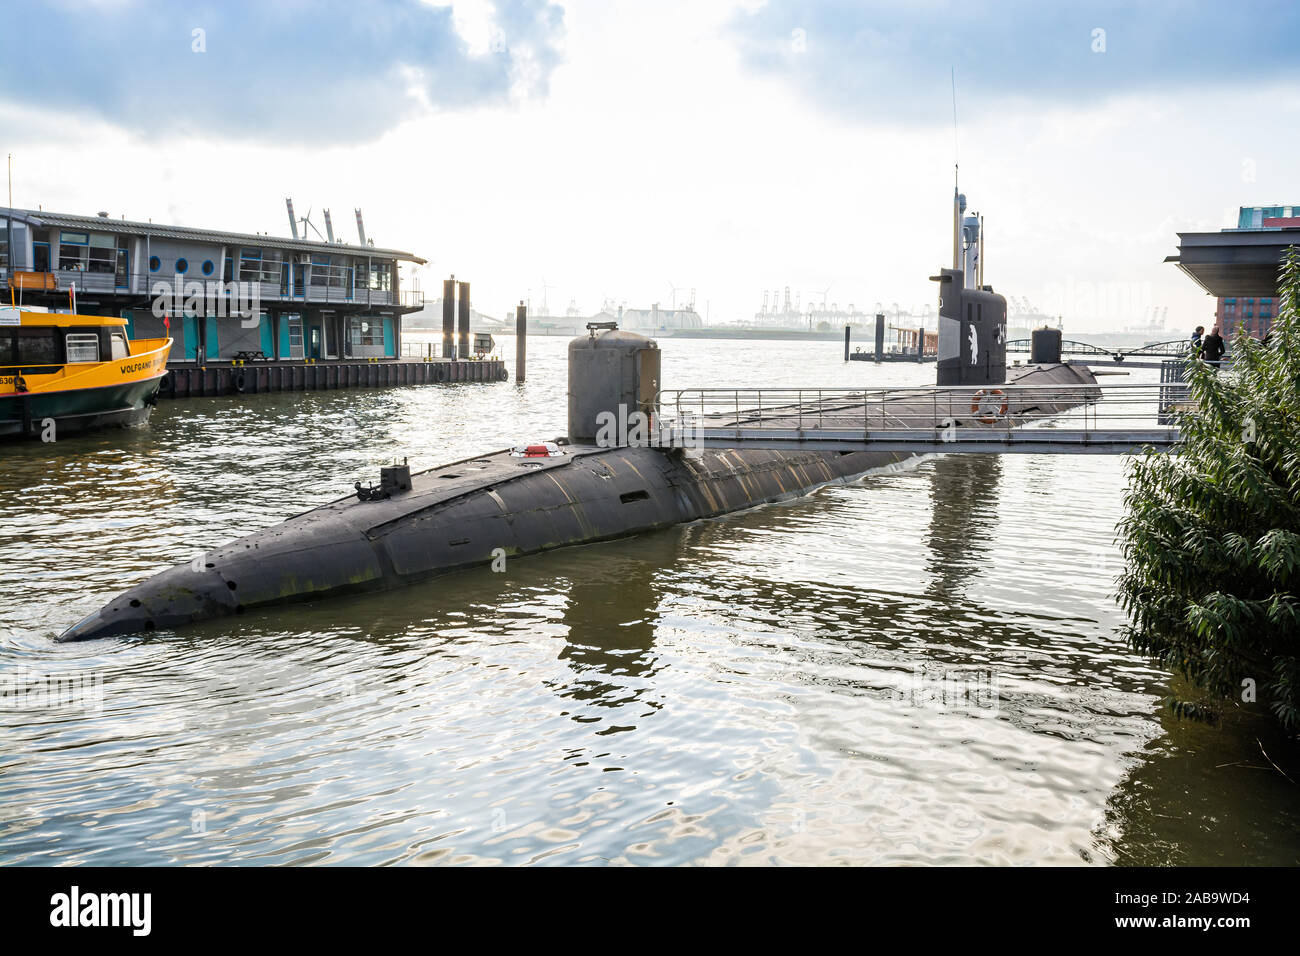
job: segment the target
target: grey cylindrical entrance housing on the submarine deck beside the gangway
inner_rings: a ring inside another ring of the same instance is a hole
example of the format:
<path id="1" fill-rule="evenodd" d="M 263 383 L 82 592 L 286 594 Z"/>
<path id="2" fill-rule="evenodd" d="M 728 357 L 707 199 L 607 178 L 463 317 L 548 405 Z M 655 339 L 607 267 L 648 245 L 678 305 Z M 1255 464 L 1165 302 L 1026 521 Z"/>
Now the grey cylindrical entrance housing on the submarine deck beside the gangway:
<path id="1" fill-rule="evenodd" d="M 568 347 L 569 441 L 595 445 L 599 436 L 608 445 L 618 434 L 612 444 L 625 445 L 638 421 L 633 415 L 640 412 L 649 425 L 658 411 L 659 346 L 618 323 L 588 323 L 586 329 Z"/>

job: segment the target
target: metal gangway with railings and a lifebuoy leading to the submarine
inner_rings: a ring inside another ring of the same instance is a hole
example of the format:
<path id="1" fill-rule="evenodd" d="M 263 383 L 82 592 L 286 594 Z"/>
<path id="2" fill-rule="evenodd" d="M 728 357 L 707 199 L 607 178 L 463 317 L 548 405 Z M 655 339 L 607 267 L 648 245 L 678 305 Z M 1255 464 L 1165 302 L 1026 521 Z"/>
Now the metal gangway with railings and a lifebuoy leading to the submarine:
<path id="1" fill-rule="evenodd" d="M 1179 442 L 1180 382 L 862 389 L 666 389 L 663 447 L 1134 454 Z"/>

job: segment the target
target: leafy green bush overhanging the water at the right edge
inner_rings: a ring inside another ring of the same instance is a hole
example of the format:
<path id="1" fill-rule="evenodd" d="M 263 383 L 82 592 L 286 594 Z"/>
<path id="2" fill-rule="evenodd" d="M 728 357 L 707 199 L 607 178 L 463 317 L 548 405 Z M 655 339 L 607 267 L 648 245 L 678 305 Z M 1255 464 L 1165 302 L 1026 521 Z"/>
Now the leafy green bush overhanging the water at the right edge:
<path id="1" fill-rule="evenodd" d="M 1140 652 L 1183 674 L 1213 719 L 1225 700 L 1256 700 L 1300 730 L 1300 252 L 1282 268 L 1266 343 L 1239 336 L 1232 368 L 1188 363 L 1176 454 L 1130 466 L 1119 602 Z"/>

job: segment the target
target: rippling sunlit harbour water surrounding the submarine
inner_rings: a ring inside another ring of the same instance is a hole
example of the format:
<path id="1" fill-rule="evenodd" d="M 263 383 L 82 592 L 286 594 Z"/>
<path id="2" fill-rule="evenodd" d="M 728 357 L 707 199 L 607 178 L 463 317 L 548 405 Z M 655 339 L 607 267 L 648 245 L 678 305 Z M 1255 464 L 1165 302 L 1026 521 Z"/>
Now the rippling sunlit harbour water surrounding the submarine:
<path id="1" fill-rule="evenodd" d="M 1261 753 L 1286 743 L 1171 719 L 1114 635 L 1117 459 L 930 458 L 500 574 L 51 643 L 394 455 L 562 432 L 564 341 L 532 345 L 523 388 L 164 403 L 0 450 L 0 861 L 1297 862 Z M 927 375 L 663 345 L 670 385 Z"/>

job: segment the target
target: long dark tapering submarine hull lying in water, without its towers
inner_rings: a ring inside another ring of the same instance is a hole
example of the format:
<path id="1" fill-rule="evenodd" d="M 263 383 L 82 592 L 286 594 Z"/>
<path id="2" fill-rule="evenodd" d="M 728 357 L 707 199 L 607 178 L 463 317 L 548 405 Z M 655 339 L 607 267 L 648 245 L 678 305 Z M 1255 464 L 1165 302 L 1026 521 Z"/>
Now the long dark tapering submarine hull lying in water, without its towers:
<path id="1" fill-rule="evenodd" d="M 1069 365 L 1017 384 L 1095 384 Z M 1052 414 L 1060 408 L 1036 408 Z M 852 481 L 907 453 L 569 445 L 556 458 L 497 451 L 420 472 L 380 501 L 348 496 L 162 571 L 58 640 L 174 630 L 247 610 L 396 588 L 500 557 L 537 554 L 712 518 Z"/>

